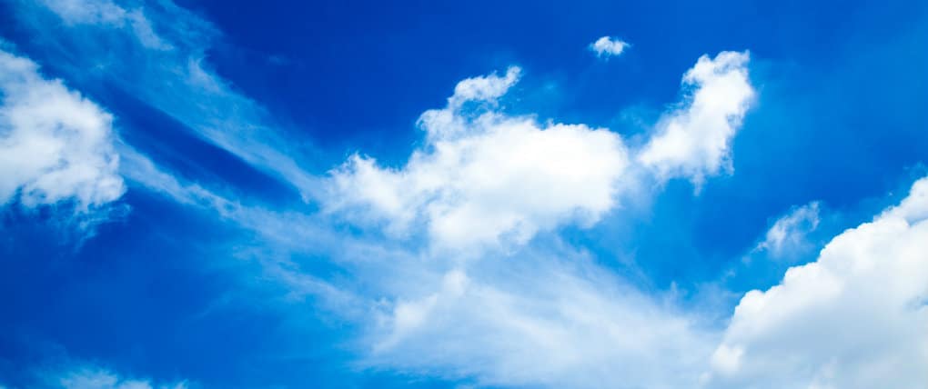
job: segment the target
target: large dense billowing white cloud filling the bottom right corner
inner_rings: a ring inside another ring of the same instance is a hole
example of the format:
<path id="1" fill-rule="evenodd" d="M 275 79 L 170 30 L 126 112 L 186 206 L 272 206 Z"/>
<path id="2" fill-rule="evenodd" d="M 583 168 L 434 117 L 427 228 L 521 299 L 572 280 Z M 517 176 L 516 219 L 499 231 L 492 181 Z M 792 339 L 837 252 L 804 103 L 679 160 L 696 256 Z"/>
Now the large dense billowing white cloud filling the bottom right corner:
<path id="1" fill-rule="evenodd" d="M 744 295 L 712 387 L 923 388 L 928 383 L 928 178 L 818 260 Z"/>

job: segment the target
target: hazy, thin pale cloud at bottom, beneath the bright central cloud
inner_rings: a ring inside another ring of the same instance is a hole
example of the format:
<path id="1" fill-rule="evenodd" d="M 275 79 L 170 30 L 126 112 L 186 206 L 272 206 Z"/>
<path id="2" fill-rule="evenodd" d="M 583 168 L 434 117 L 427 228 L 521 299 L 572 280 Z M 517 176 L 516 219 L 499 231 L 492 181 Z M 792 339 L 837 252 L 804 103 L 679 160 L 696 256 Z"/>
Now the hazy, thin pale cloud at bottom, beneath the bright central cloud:
<path id="1" fill-rule="evenodd" d="M 385 312 L 366 362 L 490 386 L 694 387 L 713 334 L 607 274 L 567 253 L 448 270 Z"/>

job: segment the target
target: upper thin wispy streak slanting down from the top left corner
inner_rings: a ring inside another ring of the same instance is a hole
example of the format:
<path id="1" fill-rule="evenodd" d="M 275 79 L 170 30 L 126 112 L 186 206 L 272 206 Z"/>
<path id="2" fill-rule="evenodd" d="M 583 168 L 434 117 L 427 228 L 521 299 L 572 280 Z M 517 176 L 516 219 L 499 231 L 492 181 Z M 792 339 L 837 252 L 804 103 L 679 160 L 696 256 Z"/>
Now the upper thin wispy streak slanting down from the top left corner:
<path id="1" fill-rule="evenodd" d="M 216 74 L 204 58 L 220 34 L 208 21 L 171 1 L 42 0 L 17 2 L 15 10 L 69 76 L 121 88 L 310 196 L 316 178 L 294 158 L 317 150 L 285 136 L 264 107 Z M 50 24 L 61 30 L 47 33 Z"/>

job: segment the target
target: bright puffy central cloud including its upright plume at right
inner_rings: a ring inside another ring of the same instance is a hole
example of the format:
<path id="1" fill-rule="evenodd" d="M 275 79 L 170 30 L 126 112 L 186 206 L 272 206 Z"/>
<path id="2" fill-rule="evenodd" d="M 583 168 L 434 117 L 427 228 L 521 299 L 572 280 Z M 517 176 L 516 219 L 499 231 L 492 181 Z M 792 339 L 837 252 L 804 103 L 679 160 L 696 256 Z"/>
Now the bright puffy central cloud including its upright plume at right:
<path id="1" fill-rule="evenodd" d="M 702 182 L 718 172 L 754 96 L 747 61 L 746 53 L 702 56 L 684 77 L 692 94 L 686 107 L 666 114 L 637 152 L 607 129 L 500 112 L 498 99 L 518 82 L 518 68 L 467 79 L 445 108 L 419 118 L 426 143 L 405 166 L 355 155 L 333 171 L 323 201 L 330 211 L 385 220 L 393 234 L 424 222 L 432 243 L 457 249 L 524 243 L 566 222 L 589 225 L 632 184 L 622 178 L 633 164 L 661 180 Z"/>

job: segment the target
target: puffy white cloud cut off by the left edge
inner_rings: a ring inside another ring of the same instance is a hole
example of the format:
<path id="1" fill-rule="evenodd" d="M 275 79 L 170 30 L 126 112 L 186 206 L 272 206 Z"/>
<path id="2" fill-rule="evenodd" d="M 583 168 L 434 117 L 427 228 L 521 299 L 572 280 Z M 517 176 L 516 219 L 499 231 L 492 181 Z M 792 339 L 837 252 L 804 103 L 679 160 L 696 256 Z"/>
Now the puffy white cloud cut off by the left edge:
<path id="1" fill-rule="evenodd" d="M 125 191 L 112 117 L 31 60 L 0 51 L 0 204 L 74 200 L 87 211 Z"/>

